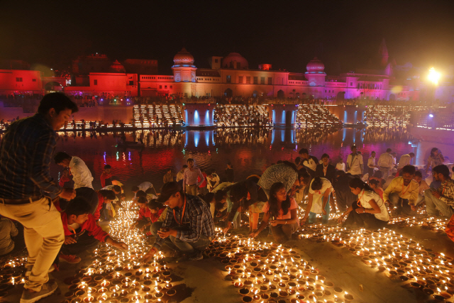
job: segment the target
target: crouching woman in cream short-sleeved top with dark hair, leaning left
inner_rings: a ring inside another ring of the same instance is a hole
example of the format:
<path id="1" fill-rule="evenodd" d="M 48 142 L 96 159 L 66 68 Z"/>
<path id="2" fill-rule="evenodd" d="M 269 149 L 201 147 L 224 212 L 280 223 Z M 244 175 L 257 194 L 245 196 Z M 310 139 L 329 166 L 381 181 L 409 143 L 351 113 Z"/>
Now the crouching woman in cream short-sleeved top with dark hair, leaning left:
<path id="1" fill-rule="evenodd" d="M 382 198 L 369 185 L 358 178 L 350 180 L 348 185 L 353 194 L 357 195 L 359 199 L 358 202 L 353 203 L 339 217 L 339 223 L 348 215 L 343 224 L 344 226 L 356 224 L 356 227 L 366 227 L 374 230 L 388 224 L 388 210 L 384 206 Z"/>

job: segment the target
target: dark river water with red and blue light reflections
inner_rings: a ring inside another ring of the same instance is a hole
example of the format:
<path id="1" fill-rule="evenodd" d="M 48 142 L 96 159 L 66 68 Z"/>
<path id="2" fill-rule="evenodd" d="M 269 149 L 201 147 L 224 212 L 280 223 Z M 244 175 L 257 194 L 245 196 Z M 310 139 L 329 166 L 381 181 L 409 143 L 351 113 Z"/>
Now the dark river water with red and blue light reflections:
<path id="1" fill-rule="evenodd" d="M 226 163 L 231 162 L 236 181 L 249 175 L 260 175 L 266 167 L 278 160 L 294 160 L 301 148 L 321 158 L 323 153 L 331 156 L 336 165 L 339 157 L 344 162 L 355 144 L 362 152 L 365 164 L 370 152 L 378 155 L 387 148 L 397 152 L 399 159 L 404 153 L 414 152 L 407 133 L 400 128 L 368 128 L 367 130 L 343 128 L 339 131 L 324 130 L 267 130 L 236 129 L 216 131 L 130 131 L 125 132 L 127 141 L 138 141 L 144 148 L 117 148 L 121 133 L 60 132 L 56 151 L 76 155 L 87 163 L 94 177 L 94 188 L 99 189 L 99 176 L 104 165 L 112 166 L 112 173 L 126 186 L 144 181 L 152 182 L 158 189 L 162 177 L 172 168 L 176 173 L 194 158 L 196 166 L 206 170 L 214 168 L 225 177 Z M 62 167 L 51 165 L 53 177 L 59 177 Z"/>

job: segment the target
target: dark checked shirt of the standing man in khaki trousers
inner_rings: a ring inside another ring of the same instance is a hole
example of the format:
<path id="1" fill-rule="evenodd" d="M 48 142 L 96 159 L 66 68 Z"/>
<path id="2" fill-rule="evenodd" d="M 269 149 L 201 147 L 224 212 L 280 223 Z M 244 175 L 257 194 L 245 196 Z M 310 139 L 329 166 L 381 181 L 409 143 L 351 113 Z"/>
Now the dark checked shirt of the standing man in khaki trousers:
<path id="1" fill-rule="evenodd" d="M 49 165 L 57 134 L 41 114 L 9 126 L 0 143 L 0 197 L 26 199 L 62 189 L 50 176 Z"/>

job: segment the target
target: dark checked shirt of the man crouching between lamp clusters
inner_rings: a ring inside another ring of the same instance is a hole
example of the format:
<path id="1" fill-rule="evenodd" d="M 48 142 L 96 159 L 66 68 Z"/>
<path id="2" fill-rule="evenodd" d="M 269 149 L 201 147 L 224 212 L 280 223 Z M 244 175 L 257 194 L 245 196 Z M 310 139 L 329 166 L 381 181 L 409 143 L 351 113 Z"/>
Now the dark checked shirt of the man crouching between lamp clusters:
<path id="1" fill-rule="evenodd" d="M 182 229 L 177 231 L 175 238 L 184 242 L 199 241 L 202 234 L 208 238 L 214 238 L 214 223 L 211 211 L 199 197 L 186 194 L 186 208 L 184 209 L 183 218 L 182 212 L 183 207 L 175 207 L 175 220 L 173 209 L 167 207 L 162 228 L 182 227 Z M 165 238 L 157 236 L 153 247 L 159 250 L 164 241 Z"/>

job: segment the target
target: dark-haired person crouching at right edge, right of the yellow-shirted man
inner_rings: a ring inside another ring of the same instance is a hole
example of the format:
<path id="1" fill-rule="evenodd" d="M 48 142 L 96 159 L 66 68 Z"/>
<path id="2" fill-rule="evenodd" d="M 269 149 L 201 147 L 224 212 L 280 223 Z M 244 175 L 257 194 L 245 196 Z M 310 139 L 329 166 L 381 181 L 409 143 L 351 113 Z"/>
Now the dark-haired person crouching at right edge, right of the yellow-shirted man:
<path id="1" fill-rule="evenodd" d="M 437 165 L 432 169 L 433 179 L 441 182 L 438 189 L 426 189 L 426 211 L 429 216 L 438 216 L 438 211 L 443 216 L 454 214 L 454 182 L 449 177 L 449 168 L 446 165 Z"/>

